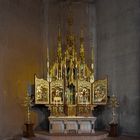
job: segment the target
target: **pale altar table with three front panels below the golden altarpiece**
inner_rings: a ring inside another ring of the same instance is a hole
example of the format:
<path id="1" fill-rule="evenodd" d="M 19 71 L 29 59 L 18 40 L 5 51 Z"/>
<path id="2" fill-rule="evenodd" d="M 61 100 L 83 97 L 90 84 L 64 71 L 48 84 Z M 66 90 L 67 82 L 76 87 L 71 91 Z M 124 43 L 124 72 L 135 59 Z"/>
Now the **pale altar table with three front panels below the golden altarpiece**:
<path id="1" fill-rule="evenodd" d="M 64 117 L 49 117 L 49 132 L 50 133 L 95 133 L 96 117 L 81 117 L 81 116 L 64 116 Z"/>

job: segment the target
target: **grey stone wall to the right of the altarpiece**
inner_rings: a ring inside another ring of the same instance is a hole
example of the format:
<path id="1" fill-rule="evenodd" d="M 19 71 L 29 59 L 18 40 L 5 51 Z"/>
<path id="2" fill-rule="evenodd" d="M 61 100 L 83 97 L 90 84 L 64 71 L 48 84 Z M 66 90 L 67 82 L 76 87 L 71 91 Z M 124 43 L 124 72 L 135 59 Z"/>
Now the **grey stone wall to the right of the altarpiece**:
<path id="1" fill-rule="evenodd" d="M 119 130 L 140 135 L 140 1 L 96 0 L 97 77 L 108 75 L 109 95 L 118 97 Z M 101 114 L 108 127 L 110 109 Z"/>

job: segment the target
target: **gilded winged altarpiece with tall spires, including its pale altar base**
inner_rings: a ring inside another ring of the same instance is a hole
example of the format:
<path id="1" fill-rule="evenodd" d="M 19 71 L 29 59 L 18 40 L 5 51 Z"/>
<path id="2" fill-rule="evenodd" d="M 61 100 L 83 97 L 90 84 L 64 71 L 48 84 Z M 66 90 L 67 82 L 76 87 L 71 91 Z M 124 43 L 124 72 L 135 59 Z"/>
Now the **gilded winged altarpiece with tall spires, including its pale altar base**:
<path id="1" fill-rule="evenodd" d="M 62 45 L 59 28 L 57 57 L 51 67 L 49 55 L 47 56 L 46 80 L 35 75 L 35 104 L 44 104 L 49 107 L 51 113 L 49 117 L 50 132 L 52 133 L 53 129 L 54 132 L 65 133 L 66 127 L 69 132 L 86 132 L 84 130 L 87 130 L 88 127 L 88 132 L 94 132 L 92 125 L 96 118 L 92 117 L 92 111 L 95 106 L 107 103 L 107 78 L 94 80 L 93 50 L 92 63 L 89 67 L 85 61 L 84 32 L 81 30 L 80 52 L 77 53 L 71 19 L 68 20 L 68 25 L 66 46 Z M 66 48 L 65 52 L 62 52 L 63 48 Z M 67 124 L 67 122 L 69 123 Z M 77 122 L 78 125 L 76 125 Z M 81 130 L 78 130 L 80 122 L 83 124 L 80 125 Z"/>

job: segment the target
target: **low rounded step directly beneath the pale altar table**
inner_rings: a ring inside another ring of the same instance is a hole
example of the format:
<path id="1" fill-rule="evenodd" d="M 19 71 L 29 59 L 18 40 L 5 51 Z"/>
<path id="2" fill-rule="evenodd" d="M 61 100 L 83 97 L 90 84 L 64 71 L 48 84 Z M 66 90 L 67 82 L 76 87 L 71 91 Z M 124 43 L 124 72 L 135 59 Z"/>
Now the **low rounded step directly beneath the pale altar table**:
<path id="1" fill-rule="evenodd" d="M 36 132 L 33 138 L 22 138 L 22 140 L 103 140 L 108 133 L 97 131 L 95 134 L 49 134 L 47 132 Z"/>

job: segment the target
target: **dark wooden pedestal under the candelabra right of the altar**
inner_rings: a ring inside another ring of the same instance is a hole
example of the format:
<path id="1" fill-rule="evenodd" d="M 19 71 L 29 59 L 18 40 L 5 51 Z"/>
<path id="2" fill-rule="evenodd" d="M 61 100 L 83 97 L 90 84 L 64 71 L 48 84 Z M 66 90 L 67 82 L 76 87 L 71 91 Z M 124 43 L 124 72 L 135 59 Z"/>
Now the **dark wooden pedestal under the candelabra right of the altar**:
<path id="1" fill-rule="evenodd" d="M 111 123 L 109 125 L 110 125 L 109 136 L 117 137 L 118 136 L 118 124 Z"/>

